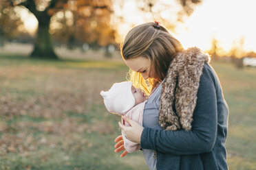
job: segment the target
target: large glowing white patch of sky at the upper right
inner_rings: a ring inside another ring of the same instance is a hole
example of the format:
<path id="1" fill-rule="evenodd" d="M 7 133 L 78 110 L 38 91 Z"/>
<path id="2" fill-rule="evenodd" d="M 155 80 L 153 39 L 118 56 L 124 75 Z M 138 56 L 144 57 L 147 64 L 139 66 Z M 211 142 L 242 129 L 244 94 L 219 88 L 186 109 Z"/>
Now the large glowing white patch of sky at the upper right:
<path id="1" fill-rule="evenodd" d="M 198 46 L 204 51 L 211 48 L 214 38 L 223 49 L 222 55 L 234 46 L 240 51 L 256 52 L 255 6 L 256 1 L 250 0 L 204 0 L 189 19 L 178 24 L 175 37 L 185 48 Z"/>

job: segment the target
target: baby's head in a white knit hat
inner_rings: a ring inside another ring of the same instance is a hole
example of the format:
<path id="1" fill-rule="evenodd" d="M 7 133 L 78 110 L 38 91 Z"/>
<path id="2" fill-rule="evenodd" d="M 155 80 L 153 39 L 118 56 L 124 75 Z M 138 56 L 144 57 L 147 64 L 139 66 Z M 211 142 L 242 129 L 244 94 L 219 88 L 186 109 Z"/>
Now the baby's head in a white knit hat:
<path id="1" fill-rule="evenodd" d="M 131 82 L 115 83 L 108 91 L 101 91 L 100 95 L 107 110 L 118 114 L 123 114 L 146 100 L 142 90 L 132 86 Z"/>

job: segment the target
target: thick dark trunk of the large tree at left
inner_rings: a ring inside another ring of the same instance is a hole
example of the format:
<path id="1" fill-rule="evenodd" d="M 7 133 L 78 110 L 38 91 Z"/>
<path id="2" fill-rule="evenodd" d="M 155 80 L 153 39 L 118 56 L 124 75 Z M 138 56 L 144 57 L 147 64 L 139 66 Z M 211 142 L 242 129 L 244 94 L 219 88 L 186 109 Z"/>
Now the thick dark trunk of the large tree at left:
<path id="1" fill-rule="evenodd" d="M 46 14 L 36 18 L 37 18 L 37 21 L 39 21 L 39 27 L 36 33 L 34 49 L 30 54 L 30 56 L 32 58 L 57 59 L 58 57 L 54 53 L 52 38 L 49 33 L 50 16 L 47 16 Z"/>

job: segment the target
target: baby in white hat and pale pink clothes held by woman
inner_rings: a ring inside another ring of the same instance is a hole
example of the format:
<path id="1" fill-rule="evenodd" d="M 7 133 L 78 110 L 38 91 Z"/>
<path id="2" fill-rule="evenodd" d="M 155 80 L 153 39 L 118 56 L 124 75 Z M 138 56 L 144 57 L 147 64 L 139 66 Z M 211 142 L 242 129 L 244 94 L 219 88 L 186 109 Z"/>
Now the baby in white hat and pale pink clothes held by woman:
<path id="1" fill-rule="evenodd" d="M 131 82 L 115 83 L 111 88 L 100 95 L 104 99 L 104 104 L 109 112 L 129 117 L 142 125 L 142 115 L 146 102 L 146 96 L 140 90 L 135 88 Z M 122 121 L 123 125 L 129 126 Z M 125 149 L 131 153 L 140 149 L 140 144 L 129 141 L 122 133 Z"/>

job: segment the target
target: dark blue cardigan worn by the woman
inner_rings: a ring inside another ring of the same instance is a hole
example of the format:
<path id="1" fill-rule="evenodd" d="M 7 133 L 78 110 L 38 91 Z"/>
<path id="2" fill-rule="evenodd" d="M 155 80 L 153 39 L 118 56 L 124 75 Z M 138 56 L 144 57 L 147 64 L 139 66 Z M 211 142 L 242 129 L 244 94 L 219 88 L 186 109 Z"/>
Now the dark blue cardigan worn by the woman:
<path id="1" fill-rule="evenodd" d="M 228 169 L 224 146 L 228 106 L 217 75 L 208 63 L 204 64 L 197 97 L 190 131 L 144 128 L 140 145 L 142 149 L 157 151 L 158 170 Z"/>

